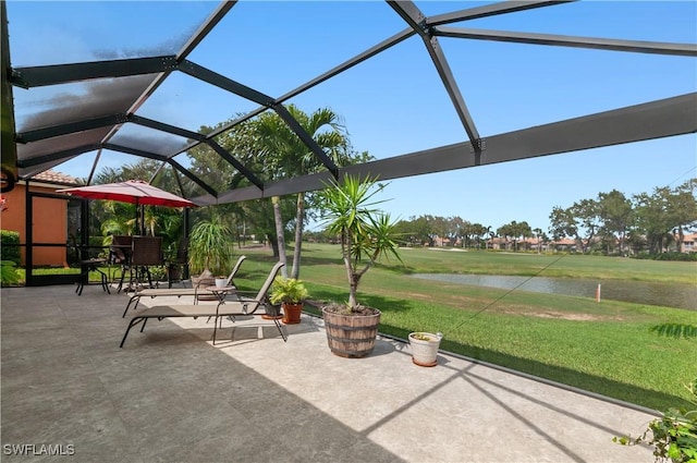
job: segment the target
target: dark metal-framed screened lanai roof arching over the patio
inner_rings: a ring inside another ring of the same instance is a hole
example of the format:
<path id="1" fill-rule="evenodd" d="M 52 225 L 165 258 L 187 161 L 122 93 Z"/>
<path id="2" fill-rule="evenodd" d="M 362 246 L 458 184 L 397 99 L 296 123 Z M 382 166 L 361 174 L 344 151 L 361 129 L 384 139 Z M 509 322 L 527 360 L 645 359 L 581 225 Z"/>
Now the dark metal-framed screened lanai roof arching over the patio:
<path id="1" fill-rule="evenodd" d="M 664 23 L 650 8 L 687 10 Z M 176 180 L 171 193 L 207 206 L 344 174 L 402 179 L 694 134 L 694 13 L 690 2 L 2 2 L 3 191 L 48 169 L 93 183 L 148 158 Z M 337 165 L 291 106 L 331 108 L 370 160 Z M 315 169 L 270 171 L 224 148 L 265 113 Z M 216 186 L 192 150 L 234 178 Z"/>

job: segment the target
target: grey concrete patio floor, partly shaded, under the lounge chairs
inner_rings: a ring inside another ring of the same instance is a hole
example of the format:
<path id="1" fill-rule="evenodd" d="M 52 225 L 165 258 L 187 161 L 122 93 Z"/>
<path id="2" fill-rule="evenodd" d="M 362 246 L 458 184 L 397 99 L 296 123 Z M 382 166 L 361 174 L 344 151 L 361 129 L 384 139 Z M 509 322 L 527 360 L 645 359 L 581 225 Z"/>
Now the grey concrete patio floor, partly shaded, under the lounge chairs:
<path id="1" fill-rule="evenodd" d="M 249 317 L 213 346 L 199 318 L 150 320 L 119 349 L 126 297 L 73 291 L 2 290 L 3 462 L 653 461 L 612 442 L 651 414 L 465 358 L 418 367 L 388 338 L 338 357 L 307 315 L 286 343 Z"/>

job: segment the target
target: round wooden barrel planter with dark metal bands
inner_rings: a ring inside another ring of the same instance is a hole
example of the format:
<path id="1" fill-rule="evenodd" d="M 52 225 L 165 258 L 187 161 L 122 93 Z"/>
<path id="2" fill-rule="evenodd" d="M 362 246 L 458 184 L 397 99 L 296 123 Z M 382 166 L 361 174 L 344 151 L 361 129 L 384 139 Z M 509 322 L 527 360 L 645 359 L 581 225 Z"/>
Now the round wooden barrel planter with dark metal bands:
<path id="1" fill-rule="evenodd" d="M 342 315 L 322 307 L 329 350 L 341 357 L 364 357 L 372 352 L 380 325 L 380 310 L 372 315 Z"/>

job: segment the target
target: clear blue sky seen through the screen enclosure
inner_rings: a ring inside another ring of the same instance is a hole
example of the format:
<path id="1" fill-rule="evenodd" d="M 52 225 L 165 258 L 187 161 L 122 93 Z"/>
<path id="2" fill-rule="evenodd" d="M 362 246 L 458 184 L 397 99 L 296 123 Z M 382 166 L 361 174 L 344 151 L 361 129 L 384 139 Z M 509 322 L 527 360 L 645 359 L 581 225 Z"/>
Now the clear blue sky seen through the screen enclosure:
<path id="1" fill-rule="evenodd" d="M 10 1 L 12 65 L 54 64 L 174 51 L 217 2 Z M 417 1 L 426 15 L 475 2 Z M 69 24 L 63 26 L 63 24 Z M 651 41 L 697 41 L 697 3 L 585 1 L 454 26 Z M 279 97 L 405 28 L 379 1 L 241 1 L 189 60 Z M 644 53 L 439 39 L 480 135 L 540 125 L 697 90 L 697 59 Z M 154 51 L 157 50 L 157 51 Z M 80 85 L 62 86 L 80 93 Z M 48 92 L 48 90 L 47 90 Z M 51 92 L 56 92 L 52 89 Z M 19 108 L 39 108 L 15 89 Z M 291 99 L 343 117 L 357 150 L 386 158 L 466 141 L 428 53 L 413 37 Z M 255 109 L 222 90 L 176 75 L 138 114 L 197 130 Z M 17 125 L 21 130 L 22 113 Z M 124 134 L 136 136 L 132 127 Z M 93 155 L 57 168 L 86 176 Z M 135 162 L 102 155 L 102 166 Z M 527 220 L 546 230 L 554 206 L 613 188 L 626 195 L 697 176 L 693 135 L 391 182 L 394 216 L 460 216 L 498 228 Z"/>

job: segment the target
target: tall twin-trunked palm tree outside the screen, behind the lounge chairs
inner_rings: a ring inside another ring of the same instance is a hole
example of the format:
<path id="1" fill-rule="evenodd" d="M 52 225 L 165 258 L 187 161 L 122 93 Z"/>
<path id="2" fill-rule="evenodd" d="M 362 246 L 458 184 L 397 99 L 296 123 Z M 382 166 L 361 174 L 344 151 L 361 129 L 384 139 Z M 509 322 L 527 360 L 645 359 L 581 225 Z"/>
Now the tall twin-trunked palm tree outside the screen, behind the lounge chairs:
<path id="1" fill-rule="evenodd" d="M 298 122 L 337 165 L 347 159 L 348 141 L 340 118 L 329 108 L 320 108 L 307 114 L 294 105 L 288 111 Z M 317 172 L 322 168 L 316 155 L 305 145 L 278 114 L 265 114 L 257 121 L 259 139 L 264 154 L 268 156 L 270 169 L 278 178 L 291 178 Z M 283 222 L 279 198 L 272 198 L 277 234 L 279 240 L 279 258 L 285 260 Z M 295 214 L 295 247 L 291 278 L 299 277 L 301 249 L 303 244 L 303 224 L 305 222 L 305 193 L 297 194 Z M 283 267 L 285 269 L 285 267 Z M 286 275 L 284 275 L 286 276 Z"/>

